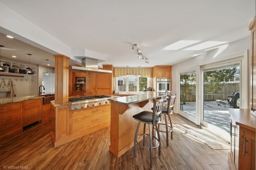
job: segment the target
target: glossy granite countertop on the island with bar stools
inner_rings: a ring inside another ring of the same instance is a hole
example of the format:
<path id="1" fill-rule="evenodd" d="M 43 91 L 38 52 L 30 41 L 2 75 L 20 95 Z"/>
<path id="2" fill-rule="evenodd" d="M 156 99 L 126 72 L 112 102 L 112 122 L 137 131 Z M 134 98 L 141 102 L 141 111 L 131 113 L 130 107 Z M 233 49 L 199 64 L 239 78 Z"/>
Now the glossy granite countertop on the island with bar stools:
<path id="1" fill-rule="evenodd" d="M 157 92 L 143 92 L 142 94 L 136 94 L 132 96 L 122 96 L 122 97 L 115 97 L 109 99 L 111 102 L 117 102 L 120 104 L 134 104 L 138 102 L 143 102 L 145 100 L 150 100 L 158 97 L 162 97 L 165 94 L 157 93 Z"/>

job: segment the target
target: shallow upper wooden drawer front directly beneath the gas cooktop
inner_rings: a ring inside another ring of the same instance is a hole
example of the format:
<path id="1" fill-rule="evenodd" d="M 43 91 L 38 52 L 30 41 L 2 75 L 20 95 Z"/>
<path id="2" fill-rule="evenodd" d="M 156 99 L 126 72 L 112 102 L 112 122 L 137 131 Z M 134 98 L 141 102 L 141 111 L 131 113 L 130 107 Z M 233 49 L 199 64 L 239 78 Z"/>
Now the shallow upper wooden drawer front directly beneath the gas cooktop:
<path id="1" fill-rule="evenodd" d="M 72 118 L 74 117 L 81 117 L 85 115 L 91 115 L 95 113 L 102 113 L 111 110 L 111 105 L 106 104 L 104 106 L 97 106 L 97 107 L 92 107 L 90 109 L 82 109 L 80 111 L 72 111 Z"/>

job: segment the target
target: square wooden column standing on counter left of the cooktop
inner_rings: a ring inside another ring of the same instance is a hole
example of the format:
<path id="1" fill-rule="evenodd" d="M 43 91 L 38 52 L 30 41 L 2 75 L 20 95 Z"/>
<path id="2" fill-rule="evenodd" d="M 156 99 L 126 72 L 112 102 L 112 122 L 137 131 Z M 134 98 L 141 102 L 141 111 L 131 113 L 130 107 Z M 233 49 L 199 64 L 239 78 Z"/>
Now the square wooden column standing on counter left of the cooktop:
<path id="1" fill-rule="evenodd" d="M 68 102 L 68 60 L 65 55 L 55 57 L 55 104 Z"/>

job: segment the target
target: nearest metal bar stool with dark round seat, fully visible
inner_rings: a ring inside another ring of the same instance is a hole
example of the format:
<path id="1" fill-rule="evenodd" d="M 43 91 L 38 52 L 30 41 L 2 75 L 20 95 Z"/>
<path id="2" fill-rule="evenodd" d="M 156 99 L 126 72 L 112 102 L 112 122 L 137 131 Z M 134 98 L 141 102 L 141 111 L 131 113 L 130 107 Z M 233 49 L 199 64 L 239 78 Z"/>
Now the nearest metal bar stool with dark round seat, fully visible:
<path id="1" fill-rule="evenodd" d="M 142 111 L 136 115 L 133 115 L 132 117 L 139 121 L 138 127 L 136 129 L 135 137 L 134 137 L 134 158 L 136 158 L 136 143 L 144 148 L 144 149 L 150 149 L 150 169 L 152 169 L 152 162 L 153 162 L 153 149 L 158 147 L 158 156 L 161 156 L 161 142 L 160 142 L 160 134 L 158 130 L 158 123 L 160 123 L 161 120 L 161 113 L 164 105 L 164 98 L 161 99 L 154 99 L 154 107 L 153 107 L 153 114 L 151 111 Z M 140 129 L 140 123 L 144 123 L 144 130 L 143 133 L 138 135 L 138 131 Z M 148 124 L 149 127 L 149 133 L 145 132 L 146 124 Z M 152 127 L 151 127 L 152 125 Z M 154 136 L 152 133 L 152 129 L 156 128 L 158 137 Z M 140 145 L 138 143 L 137 139 L 138 137 L 143 135 L 143 145 Z M 150 147 L 145 147 L 145 136 L 149 135 L 150 137 Z M 153 139 L 156 139 L 158 143 L 156 146 L 153 147 Z"/>

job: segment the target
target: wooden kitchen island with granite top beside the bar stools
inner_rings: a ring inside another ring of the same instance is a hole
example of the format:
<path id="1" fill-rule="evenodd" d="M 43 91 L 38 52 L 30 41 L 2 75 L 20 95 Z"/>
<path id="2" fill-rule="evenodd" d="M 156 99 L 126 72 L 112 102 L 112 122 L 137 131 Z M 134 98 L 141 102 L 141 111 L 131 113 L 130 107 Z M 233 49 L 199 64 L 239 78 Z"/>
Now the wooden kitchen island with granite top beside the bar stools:
<path id="1" fill-rule="evenodd" d="M 138 121 L 133 115 L 141 111 L 152 111 L 153 99 L 161 98 L 164 94 L 144 92 L 133 96 L 123 96 L 109 99 L 111 101 L 110 146 L 109 150 L 120 157 L 134 146 L 134 136 Z M 148 129 L 146 129 L 148 131 Z M 143 132 L 143 126 L 139 134 Z M 140 141 L 141 138 L 138 139 Z"/>

